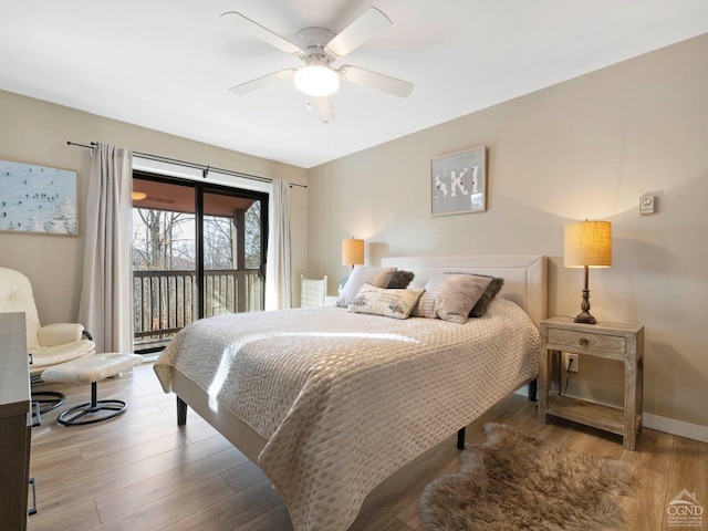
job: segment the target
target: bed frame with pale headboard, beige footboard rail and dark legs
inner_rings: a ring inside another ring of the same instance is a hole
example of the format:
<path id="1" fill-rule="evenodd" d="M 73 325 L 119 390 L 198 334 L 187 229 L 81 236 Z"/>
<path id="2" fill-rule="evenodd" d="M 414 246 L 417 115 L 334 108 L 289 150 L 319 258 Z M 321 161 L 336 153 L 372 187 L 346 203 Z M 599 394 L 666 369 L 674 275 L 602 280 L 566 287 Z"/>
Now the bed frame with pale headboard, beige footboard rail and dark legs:
<path id="1" fill-rule="evenodd" d="M 519 304 L 539 326 L 546 316 L 546 260 L 543 256 L 480 256 L 480 257 L 402 257 L 385 258 L 383 267 L 396 267 L 399 270 L 413 271 L 415 278 L 409 288 L 423 288 L 431 274 L 442 272 L 475 272 L 504 279 L 504 285 L 497 296 L 503 296 Z M 523 387 L 531 382 L 522 382 Z M 267 444 L 253 428 L 232 415 L 225 407 L 211 402 L 206 393 L 191 379 L 175 371 L 173 392 L 177 395 L 177 421 L 186 424 L 187 406 L 198 413 L 207 423 L 214 426 L 246 457 L 258 465 L 258 457 Z M 458 433 L 458 447 L 464 447 L 464 427 Z M 371 497 L 386 491 L 389 481 L 399 482 L 405 469 L 415 470 L 420 461 L 426 459 L 423 454 L 392 477 L 384 480 L 366 498 L 364 507 Z"/>

